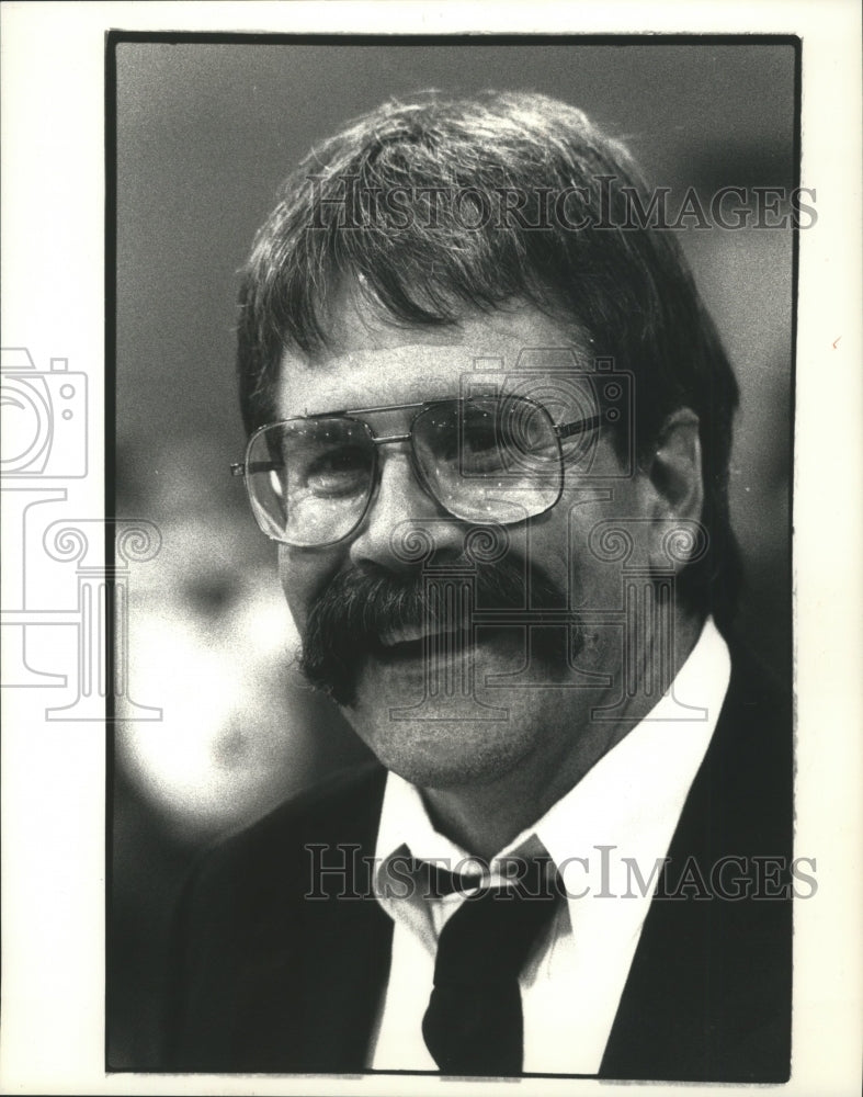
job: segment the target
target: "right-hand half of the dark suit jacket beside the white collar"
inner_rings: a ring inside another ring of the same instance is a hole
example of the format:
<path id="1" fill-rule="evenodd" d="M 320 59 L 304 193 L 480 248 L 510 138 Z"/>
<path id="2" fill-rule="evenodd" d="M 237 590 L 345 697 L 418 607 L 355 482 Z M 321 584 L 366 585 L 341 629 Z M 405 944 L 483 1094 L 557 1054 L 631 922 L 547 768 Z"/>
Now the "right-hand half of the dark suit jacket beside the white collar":
<path id="1" fill-rule="evenodd" d="M 784 861 L 787 883 L 792 778 L 785 699 L 738 658 L 645 919 L 601 1076 L 787 1079 L 791 896 L 759 900 L 750 886 L 728 898 L 716 893 L 712 873 L 736 858 L 733 868 L 758 889 L 767 855 Z M 682 897 L 662 897 L 674 894 Z"/>

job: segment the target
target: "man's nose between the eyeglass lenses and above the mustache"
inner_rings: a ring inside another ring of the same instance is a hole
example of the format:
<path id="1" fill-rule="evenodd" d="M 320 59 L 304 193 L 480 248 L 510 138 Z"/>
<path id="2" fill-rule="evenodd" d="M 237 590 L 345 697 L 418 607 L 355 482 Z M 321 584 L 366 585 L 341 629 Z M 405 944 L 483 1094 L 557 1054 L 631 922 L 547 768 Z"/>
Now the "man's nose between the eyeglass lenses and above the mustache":
<path id="1" fill-rule="evenodd" d="M 464 551 L 464 527 L 422 487 L 410 456 L 382 450 L 377 491 L 359 535 L 351 544 L 353 564 L 377 564 L 410 572 L 433 553 L 456 557 Z"/>

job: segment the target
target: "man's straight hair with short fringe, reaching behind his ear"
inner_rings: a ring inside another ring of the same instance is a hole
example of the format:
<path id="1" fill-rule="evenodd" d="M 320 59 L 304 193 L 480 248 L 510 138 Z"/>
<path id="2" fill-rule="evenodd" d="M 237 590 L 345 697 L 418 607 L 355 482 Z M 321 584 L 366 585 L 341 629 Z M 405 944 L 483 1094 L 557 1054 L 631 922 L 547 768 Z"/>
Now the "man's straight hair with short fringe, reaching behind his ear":
<path id="1" fill-rule="evenodd" d="M 632 372 L 640 460 L 670 412 L 699 416 L 709 544 L 679 593 L 728 623 L 739 581 L 727 498 L 737 384 L 673 234 L 634 217 L 633 194 L 648 210 L 625 147 L 545 95 L 430 93 L 353 122 L 287 178 L 245 268 L 247 430 L 275 418 L 283 351 L 326 349 L 340 285 L 407 326 L 526 302 Z"/>

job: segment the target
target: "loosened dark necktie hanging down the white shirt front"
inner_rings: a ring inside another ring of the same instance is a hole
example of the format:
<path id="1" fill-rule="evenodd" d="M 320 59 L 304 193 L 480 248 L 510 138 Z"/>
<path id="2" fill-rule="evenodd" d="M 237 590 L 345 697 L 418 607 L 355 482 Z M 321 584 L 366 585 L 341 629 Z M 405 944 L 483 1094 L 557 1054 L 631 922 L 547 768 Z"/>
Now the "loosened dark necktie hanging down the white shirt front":
<path id="1" fill-rule="evenodd" d="M 518 884 L 480 889 L 443 927 L 422 1034 L 444 1074 L 521 1074 L 519 973 L 555 907 L 547 863 L 527 862 Z"/>

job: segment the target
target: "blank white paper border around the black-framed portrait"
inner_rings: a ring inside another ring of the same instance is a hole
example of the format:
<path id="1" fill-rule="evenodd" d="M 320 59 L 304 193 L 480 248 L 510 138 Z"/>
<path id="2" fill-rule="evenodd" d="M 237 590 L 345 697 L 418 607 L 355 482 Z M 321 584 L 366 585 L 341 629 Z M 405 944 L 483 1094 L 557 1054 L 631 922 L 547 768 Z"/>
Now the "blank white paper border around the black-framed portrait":
<path id="1" fill-rule="evenodd" d="M 344 33 L 770 33 L 803 37 L 802 185 L 817 228 L 800 234 L 796 373 L 797 852 L 818 894 L 795 913 L 790 1094 L 860 1092 L 861 915 L 861 59 L 855 0 L 598 4 L 4 3 L 3 343 L 38 365 L 68 358 L 90 380 L 91 474 L 81 513 L 102 513 L 104 33 L 122 30 Z M 476 1094 L 439 1078 L 351 1079 L 104 1073 L 104 734 L 42 719 L 44 699 L 3 690 L 5 1093 Z M 598 1083 L 522 1084 L 580 1094 Z M 508 1083 L 506 1085 L 511 1085 Z M 604 1083 L 604 1085 L 616 1085 Z M 502 1088 L 502 1086 L 501 1086 Z M 646 1093 L 727 1093 L 731 1086 Z M 506 1090 L 509 1092 L 509 1090 Z"/>

